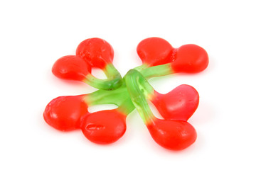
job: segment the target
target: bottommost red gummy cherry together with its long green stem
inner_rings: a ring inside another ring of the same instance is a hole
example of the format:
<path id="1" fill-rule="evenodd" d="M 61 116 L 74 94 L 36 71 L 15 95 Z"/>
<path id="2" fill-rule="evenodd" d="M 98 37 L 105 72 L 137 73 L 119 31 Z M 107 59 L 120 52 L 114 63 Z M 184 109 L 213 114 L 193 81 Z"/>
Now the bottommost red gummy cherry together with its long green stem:
<path id="1" fill-rule="evenodd" d="M 171 150 L 181 150 L 196 141 L 196 130 L 185 120 L 161 120 L 151 112 L 146 99 L 154 98 L 154 89 L 137 70 L 129 70 L 125 77 L 132 103 L 144 120 L 156 143 Z"/>

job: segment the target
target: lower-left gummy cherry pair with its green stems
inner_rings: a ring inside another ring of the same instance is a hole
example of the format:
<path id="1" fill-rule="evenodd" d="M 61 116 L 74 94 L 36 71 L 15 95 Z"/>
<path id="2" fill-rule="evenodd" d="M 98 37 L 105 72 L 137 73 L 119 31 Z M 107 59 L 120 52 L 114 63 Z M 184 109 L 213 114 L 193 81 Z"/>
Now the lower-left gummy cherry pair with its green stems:
<path id="1" fill-rule="evenodd" d="M 134 109 L 134 106 L 129 106 L 132 102 L 125 101 L 125 98 L 119 101 L 114 100 L 116 94 L 122 94 L 122 91 L 117 89 L 111 94 L 108 91 L 95 91 L 92 94 L 54 98 L 46 106 L 43 118 L 48 125 L 57 130 L 81 129 L 88 140 L 97 144 L 115 142 L 126 131 L 125 119 L 131 112 L 127 107 Z M 114 103 L 119 107 L 95 113 L 89 113 L 87 110 L 89 106 L 105 103 Z"/>

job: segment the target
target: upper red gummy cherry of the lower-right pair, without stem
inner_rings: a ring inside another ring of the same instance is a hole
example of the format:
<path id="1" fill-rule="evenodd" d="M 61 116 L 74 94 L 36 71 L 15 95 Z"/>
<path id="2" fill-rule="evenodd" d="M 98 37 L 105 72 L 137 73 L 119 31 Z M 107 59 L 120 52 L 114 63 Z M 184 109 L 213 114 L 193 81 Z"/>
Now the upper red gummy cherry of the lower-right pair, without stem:
<path id="1" fill-rule="evenodd" d="M 199 104 L 199 94 L 193 86 L 182 84 L 168 94 L 155 93 L 151 100 L 165 119 L 188 120 Z"/>

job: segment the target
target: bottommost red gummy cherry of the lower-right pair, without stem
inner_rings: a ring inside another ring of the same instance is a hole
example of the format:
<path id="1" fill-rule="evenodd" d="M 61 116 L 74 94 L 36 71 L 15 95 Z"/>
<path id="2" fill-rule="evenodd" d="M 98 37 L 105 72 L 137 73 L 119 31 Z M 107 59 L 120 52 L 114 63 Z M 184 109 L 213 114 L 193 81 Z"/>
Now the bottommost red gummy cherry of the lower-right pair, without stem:
<path id="1" fill-rule="evenodd" d="M 147 128 L 154 141 L 166 149 L 185 149 L 196 141 L 195 128 L 183 120 L 155 119 Z"/>

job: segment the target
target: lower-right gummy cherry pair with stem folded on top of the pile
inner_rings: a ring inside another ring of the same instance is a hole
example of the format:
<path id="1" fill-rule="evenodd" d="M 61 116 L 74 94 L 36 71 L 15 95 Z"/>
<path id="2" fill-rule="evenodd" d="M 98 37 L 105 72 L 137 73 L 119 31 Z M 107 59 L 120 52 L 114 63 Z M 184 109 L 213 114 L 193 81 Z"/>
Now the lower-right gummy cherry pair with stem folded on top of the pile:
<path id="1" fill-rule="evenodd" d="M 196 141 L 196 130 L 187 122 L 198 107 L 198 93 L 193 87 L 181 85 L 169 94 L 157 94 L 135 69 L 127 73 L 126 83 L 132 102 L 156 143 L 166 149 L 181 150 Z M 164 119 L 153 115 L 147 99 L 155 104 Z"/>

